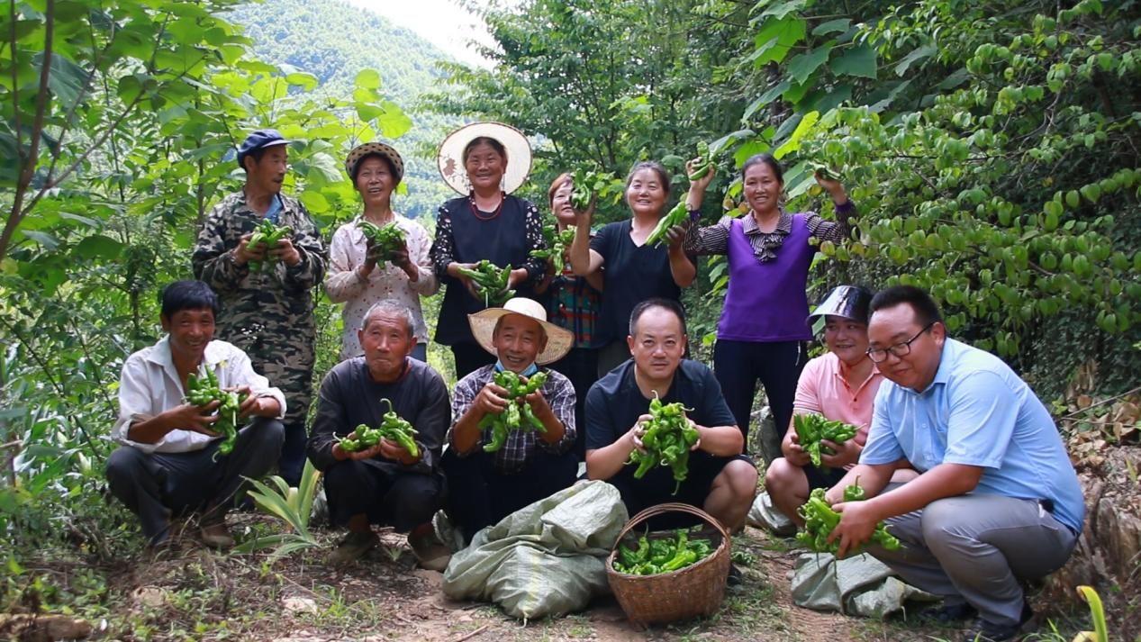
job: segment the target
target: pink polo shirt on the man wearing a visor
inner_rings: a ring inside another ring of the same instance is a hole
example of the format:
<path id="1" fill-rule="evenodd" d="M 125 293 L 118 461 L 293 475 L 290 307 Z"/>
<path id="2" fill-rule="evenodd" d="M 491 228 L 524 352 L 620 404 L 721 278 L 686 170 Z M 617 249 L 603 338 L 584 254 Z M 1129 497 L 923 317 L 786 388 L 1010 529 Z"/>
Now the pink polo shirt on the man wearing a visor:
<path id="1" fill-rule="evenodd" d="M 883 383 L 879 368 L 872 366 L 867 380 L 852 389 L 840 374 L 840 358 L 828 352 L 804 364 L 796 382 L 794 412 L 819 413 L 830 420 L 859 426 L 856 442 L 867 441 L 867 429 L 872 423 L 872 403 Z"/>

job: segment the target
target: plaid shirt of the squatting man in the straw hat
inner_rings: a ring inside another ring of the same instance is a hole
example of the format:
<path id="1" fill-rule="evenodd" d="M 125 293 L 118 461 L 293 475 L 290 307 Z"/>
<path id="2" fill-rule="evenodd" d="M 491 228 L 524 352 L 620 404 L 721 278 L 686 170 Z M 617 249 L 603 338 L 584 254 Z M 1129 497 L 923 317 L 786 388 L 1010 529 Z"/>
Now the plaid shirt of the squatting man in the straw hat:
<path id="1" fill-rule="evenodd" d="M 495 470 L 499 472 L 510 474 L 521 471 L 526 466 L 532 453 L 535 452 L 535 448 L 559 454 L 565 453 L 574 444 L 574 387 L 570 385 L 570 380 L 561 374 L 550 368 L 541 369 L 547 373 L 547 383 L 539 389 L 539 392 L 551 406 L 555 417 L 563 422 L 563 439 L 556 444 L 548 444 L 539 438 L 539 432 L 533 430 L 512 430 L 508 432 L 507 444 L 499 452 L 494 453 Z M 452 391 L 452 426 L 447 429 L 448 444 L 452 442 L 455 422 L 460 421 L 468 413 L 471 404 L 476 400 L 476 396 L 479 395 L 479 391 L 485 385 L 492 382 L 492 376 L 494 375 L 495 365 L 493 364 L 472 372 L 455 384 L 455 390 Z M 476 448 L 482 448 L 486 438 L 487 436 L 480 434 L 479 441 L 476 442 Z M 468 453 L 456 454 L 464 457 L 472 452 L 475 452 L 475 448 Z"/>

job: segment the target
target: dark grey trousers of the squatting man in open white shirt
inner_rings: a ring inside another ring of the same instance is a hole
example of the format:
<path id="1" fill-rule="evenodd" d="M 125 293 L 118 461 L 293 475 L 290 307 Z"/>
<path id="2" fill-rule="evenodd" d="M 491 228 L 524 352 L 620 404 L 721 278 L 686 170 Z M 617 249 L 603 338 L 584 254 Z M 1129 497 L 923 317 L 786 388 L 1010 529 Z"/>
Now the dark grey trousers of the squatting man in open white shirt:
<path id="1" fill-rule="evenodd" d="M 171 514 L 209 512 L 220 519 L 233 505 L 245 477 L 258 479 L 277 463 L 285 429 L 282 422 L 256 418 L 237 432 L 229 455 L 213 455 L 221 439 L 189 453 L 147 454 L 121 446 L 107 458 L 111 494 L 139 517 L 152 545 L 170 536 Z"/>

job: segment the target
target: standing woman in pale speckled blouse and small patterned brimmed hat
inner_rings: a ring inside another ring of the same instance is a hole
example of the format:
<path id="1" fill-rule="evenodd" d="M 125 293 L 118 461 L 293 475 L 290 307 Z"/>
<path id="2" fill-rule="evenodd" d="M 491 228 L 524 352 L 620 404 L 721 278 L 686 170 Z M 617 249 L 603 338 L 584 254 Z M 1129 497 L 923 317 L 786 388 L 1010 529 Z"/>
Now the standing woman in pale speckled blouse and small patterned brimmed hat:
<path id="1" fill-rule="evenodd" d="M 428 230 L 393 211 L 393 192 L 404 178 L 404 160 L 389 145 L 365 143 L 349 152 L 345 159 L 345 171 L 361 193 L 364 212 L 337 229 L 329 251 L 325 292 L 334 303 L 345 303 L 341 312 L 345 320 L 341 360 L 364 353 L 357 331 L 365 312 L 373 303 L 393 299 L 412 311 L 416 339 L 412 357 L 427 361 L 428 326 L 420 298 L 435 294 L 439 282 L 428 257 L 431 249 Z M 380 249 L 373 246 L 361 229 L 363 221 L 377 227 L 395 222 L 404 231 L 404 246 L 390 257 L 379 255 Z"/>

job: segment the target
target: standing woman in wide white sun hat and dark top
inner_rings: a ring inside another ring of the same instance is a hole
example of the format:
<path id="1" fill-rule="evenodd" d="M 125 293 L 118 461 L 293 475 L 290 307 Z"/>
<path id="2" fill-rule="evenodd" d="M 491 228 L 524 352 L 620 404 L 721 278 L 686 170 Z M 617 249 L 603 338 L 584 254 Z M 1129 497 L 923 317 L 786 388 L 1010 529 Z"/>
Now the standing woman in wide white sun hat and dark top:
<path id="1" fill-rule="evenodd" d="M 519 130 L 502 123 L 472 123 L 452 132 L 439 147 L 439 172 L 462 194 L 439 208 L 431 260 L 447 284 L 436 324 L 436 341 L 451 346 L 455 375 L 462 377 L 494 359 L 468 327 L 467 315 L 484 309 L 484 300 L 460 274 L 487 259 L 511 266 L 508 287 L 520 296 L 533 292 L 547 263 L 531 257 L 545 247 L 539 209 L 511 196 L 531 171 L 531 145 Z"/>

